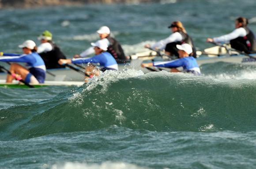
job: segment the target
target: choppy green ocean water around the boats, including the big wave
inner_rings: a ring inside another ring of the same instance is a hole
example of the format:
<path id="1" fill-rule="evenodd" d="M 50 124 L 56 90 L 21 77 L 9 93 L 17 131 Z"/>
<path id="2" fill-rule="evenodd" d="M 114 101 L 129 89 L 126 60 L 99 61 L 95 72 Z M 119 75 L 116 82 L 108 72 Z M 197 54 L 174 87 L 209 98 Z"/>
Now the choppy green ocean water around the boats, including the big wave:
<path id="1" fill-rule="evenodd" d="M 197 48 L 238 16 L 256 32 L 254 0 L 3 9 L 1 51 L 45 29 L 71 58 L 107 25 L 126 54 L 168 37 L 180 20 Z M 106 71 L 77 87 L 0 88 L 1 169 L 253 169 L 256 66 L 201 66 L 202 76 Z"/>

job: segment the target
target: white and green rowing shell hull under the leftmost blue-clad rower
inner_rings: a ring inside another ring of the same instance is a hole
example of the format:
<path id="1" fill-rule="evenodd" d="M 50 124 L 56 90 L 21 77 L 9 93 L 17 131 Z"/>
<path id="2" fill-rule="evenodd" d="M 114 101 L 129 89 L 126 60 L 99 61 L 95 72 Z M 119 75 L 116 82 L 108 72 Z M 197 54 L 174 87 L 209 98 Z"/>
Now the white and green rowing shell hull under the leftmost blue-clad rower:
<path id="1" fill-rule="evenodd" d="M 47 87 L 47 86 L 82 86 L 83 81 L 45 81 L 43 84 L 31 84 L 35 88 Z M 29 88 L 19 81 L 13 81 L 12 83 L 6 83 L 5 80 L 0 80 L 0 87 L 2 88 Z"/>

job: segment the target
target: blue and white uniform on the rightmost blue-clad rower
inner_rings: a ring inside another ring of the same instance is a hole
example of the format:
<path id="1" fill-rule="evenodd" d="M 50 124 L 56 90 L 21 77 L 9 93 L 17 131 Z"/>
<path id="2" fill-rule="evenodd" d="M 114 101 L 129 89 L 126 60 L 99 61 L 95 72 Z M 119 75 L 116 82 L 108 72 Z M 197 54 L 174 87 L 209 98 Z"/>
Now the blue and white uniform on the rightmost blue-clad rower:
<path id="1" fill-rule="evenodd" d="M 201 71 L 196 62 L 196 59 L 192 56 L 187 56 L 180 59 L 175 59 L 166 62 L 153 62 L 153 66 L 158 67 L 168 67 L 168 68 L 177 68 L 183 67 L 183 70 L 188 73 L 193 73 L 195 75 L 200 75 Z"/>

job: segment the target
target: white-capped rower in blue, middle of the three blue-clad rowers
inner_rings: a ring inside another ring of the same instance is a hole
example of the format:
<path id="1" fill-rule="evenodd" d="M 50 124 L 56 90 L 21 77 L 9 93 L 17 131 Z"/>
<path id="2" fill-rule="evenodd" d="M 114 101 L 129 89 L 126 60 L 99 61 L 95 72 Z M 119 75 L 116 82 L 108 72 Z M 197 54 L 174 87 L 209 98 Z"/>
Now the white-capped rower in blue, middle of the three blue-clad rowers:
<path id="1" fill-rule="evenodd" d="M 113 58 L 113 56 L 107 52 L 108 50 L 108 44 L 105 40 L 98 40 L 95 43 L 91 43 L 91 45 L 94 48 L 95 54 L 93 57 L 90 58 L 75 58 L 75 59 L 60 59 L 59 64 L 64 65 L 68 63 L 99 63 L 101 68 L 98 69 L 93 64 L 88 64 L 88 66 L 85 68 L 85 73 L 90 76 L 99 76 L 99 71 L 101 70 L 104 72 L 105 70 L 118 70 L 118 65 L 116 60 Z M 85 82 L 88 81 L 89 76 L 85 77 Z"/>

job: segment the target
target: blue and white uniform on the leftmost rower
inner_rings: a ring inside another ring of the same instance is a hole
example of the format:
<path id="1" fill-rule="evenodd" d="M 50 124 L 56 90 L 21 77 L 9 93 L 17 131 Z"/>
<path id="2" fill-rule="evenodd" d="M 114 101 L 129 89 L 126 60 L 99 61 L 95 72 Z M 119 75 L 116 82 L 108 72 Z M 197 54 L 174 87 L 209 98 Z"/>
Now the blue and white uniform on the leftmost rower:
<path id="1" fill-rule="evenodd" d="M 27 55 L 4 53 L 4 56 L 0 57 L 0 62 L 25 62 L 27 63 L 28 70 L 30 71 L 30 73 L 28 73 L 25 79 L 27 83 L 30 83 L 30 77 L 32 75 L 34 75 L 34 77 L 38 80 L 39 83 L 44 83 L 45 81 L 45 62 L 36 52 L 32 52 Z"/>

